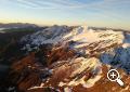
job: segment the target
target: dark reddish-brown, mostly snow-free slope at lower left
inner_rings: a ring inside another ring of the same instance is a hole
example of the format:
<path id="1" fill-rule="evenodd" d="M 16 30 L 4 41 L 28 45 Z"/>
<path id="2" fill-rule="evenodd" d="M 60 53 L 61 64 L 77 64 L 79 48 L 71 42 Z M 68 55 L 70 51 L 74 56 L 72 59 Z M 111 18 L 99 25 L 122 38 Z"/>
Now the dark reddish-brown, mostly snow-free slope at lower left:
<path id="1" fill-rule="evenodd" d="M 47 56 L 48 61 L 42 61 L 46 63 L 39 61 L 41 55 Z M 31 87 L 40 86 L 42 82 L 47 81 L 48 77 L 52 75 L 51 68 L 58 65 L 56 64 L 52 66 L 53 63 L 61 60 L 72 58 L 74 55 L 75 51 L 68 50 L 68 48 L 49 50 L 44 53 L 41 53 L 40 51 L 38 53 L 32 52 L 21 61 L 14 62 L 9 77 L 6 78 L 8 87 L 14 86 L 18 89 L 18 91 L 27 91 L 27 89 Z"/>

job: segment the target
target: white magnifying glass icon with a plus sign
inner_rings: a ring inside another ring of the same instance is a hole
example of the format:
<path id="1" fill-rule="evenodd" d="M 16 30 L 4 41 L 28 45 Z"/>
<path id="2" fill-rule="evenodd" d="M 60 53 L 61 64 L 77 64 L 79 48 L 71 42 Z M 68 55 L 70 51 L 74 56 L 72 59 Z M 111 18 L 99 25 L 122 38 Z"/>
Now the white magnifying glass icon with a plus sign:
<path id="1" fill-rule="evenodd" d="M 108 70 L 107 78 L 110 81 L 116 81 L 121 87 L 125 86 L 125 83 L 120 79 L 119 73 L 116 69 Z"/>

